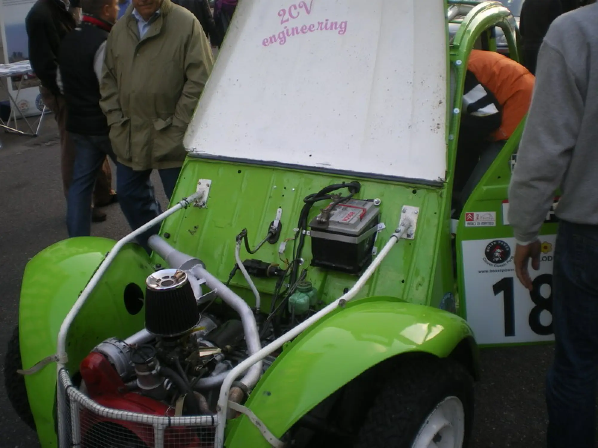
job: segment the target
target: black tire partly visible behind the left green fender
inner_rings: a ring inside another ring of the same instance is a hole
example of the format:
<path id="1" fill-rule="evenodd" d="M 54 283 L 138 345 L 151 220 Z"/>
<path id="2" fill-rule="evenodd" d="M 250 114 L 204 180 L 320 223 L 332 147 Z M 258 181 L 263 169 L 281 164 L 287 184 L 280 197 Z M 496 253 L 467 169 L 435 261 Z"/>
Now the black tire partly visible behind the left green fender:
<path id="1" fill-rule="evenodd" d="M 29 406 L 25 378 L 17 373 L 23 369 L 21 361 L 21 347 L 19 343 L 19 326 L 14 327 L 13 336 L 8 341 L 8 349 L 4 359 L 4 387 L 8 395 L 8 401 L 19 418 L 30 428 L 35 429 L 35 421 Z"/>

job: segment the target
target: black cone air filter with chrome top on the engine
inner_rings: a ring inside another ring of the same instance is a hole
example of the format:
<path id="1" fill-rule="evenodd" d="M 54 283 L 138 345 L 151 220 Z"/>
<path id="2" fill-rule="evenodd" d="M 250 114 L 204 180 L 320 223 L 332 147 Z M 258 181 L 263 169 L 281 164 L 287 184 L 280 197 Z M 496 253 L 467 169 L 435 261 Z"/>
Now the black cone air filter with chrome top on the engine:
<path id="1" fill-rule="evenodd" d="M 145 281 L 145 329 L 162 337 L 184 335 L 200 320 L 187 274 L 178 269 L 154 272 Z"/>

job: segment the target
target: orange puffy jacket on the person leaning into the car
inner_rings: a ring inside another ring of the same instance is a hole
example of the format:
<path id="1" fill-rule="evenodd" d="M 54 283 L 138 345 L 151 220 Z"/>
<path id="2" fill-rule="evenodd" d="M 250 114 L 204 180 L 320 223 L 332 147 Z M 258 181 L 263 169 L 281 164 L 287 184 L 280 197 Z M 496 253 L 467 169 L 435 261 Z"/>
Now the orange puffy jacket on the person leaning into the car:
<path id="1" fill-rule="evenodd" d="M 523 65 L 494 51 L 472 50 L 467 68 L 501 103 L 502 123 L 492 133 L 492 140 L 508 140 L 532 102 L 535 76 Z"/>

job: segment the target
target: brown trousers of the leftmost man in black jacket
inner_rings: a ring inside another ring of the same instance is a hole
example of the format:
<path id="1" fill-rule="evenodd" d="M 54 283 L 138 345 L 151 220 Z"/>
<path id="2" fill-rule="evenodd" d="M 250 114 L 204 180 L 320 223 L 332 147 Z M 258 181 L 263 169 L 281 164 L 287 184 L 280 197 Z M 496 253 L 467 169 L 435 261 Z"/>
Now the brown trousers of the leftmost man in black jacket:
<path id="1" fill-rule="evenodd" d="M 43 86 L 39 87 L 39 93 L 41 94 L 44 105 L 54 113 L 54 119 L 56 119 L 56 124 L 58 125 L 62 189 L 65 198 L 68 198 L 75 165 L 75 145 L 71 139 L 71 135 L 66 130 L 66 101 L 63 96 L 56 96 Z M 93 191 L 94 204 L 98 206 L 108 204 L 111 200 L 112 173 L 108 159 L 105 157 L 102 170 L 97 173 L 96 182 L 96 188 Z"/>

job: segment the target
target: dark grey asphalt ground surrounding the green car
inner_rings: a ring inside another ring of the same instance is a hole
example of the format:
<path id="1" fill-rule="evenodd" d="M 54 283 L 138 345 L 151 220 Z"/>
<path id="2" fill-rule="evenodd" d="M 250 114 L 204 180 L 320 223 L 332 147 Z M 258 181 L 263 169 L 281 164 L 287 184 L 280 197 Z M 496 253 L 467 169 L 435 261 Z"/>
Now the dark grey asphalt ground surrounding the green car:
<path id="1" fill-rule="evenodd" d="M 52 117 L 47 118 L 36 139 L 0 134 L 0 366 L 17 321 L 26 263 L 42 248 L 66 238 L 58 137 Z M 108 221 L 94 225 L 93 234 L 122 237 L 127 226 L 118 205 L 107 211 Z M 482 352 L 472 448 L 543 446 L 544 372 L 550 357 L 549 346 Z M 35 434 L 13 415 L 0 372 L 0 448 L 38 446 Z"/>

